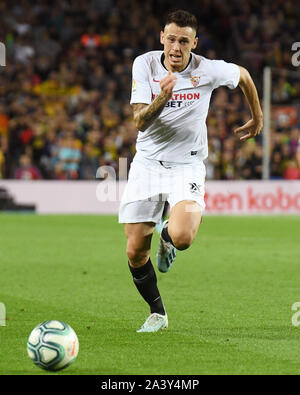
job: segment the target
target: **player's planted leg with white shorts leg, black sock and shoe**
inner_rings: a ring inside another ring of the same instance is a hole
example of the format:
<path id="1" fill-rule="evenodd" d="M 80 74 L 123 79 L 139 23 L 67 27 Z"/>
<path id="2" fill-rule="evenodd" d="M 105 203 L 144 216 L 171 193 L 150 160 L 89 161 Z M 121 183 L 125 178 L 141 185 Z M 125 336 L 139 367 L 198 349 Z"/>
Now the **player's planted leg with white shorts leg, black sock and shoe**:
<path id="1" fill-rule="evenodd" d="M 136 155 L 119 209 L 119 222 L 125 224 L 129 269 L 136 288 L 150 307 L 150 317 L 141 332 L 155 332 L 168 325 L 150 259 L 152 235 L 165 203 L 163 194 L 153 182 L 157 180 L 154 175 L 151 161 Z"/>

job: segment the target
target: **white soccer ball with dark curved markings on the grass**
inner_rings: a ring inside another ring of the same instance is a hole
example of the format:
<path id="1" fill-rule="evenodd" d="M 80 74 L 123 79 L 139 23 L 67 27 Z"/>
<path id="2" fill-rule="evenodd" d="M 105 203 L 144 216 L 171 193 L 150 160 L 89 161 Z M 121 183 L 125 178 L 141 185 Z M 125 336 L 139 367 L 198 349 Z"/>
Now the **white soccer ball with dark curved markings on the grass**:
<path id="1" fill-rule="evenodd" d="M 74 330 L 62 321 L 45 321 L 36 326 L 27 341 L 27 352 L 42 369 L 61 370 L 74 362 L 79 342 Z"/>

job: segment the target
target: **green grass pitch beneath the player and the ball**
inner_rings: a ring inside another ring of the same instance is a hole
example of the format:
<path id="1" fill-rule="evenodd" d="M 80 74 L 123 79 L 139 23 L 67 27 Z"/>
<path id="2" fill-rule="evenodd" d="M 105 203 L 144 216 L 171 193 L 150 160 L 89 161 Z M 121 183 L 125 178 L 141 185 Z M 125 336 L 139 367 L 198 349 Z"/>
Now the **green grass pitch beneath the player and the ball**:
<path id="1" fill-rule="evenodd" d="M 172 270 L 157 272 L 169 329 L 154 334 L 136 333 L 149 311 L 117 217 L 2 214 L 0 233 L 0 374 L 299 374 L 300 217 L 205 217 Z M 26 352 L 49 319 L 80 342 L 59 373 Z"/>

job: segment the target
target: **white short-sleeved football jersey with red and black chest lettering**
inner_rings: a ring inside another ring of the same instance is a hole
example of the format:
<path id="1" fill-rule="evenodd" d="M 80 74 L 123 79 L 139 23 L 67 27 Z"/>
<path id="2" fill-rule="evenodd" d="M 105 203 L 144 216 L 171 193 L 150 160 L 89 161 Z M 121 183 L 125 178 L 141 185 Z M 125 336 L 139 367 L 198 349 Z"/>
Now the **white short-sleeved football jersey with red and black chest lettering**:
<path id="1" fill-rule="evenodd" d="M 168 74 L 163 57 L 163 51 L 151 51 L 134 60 L 130 104 L 150 104 L 160 94 L 159 82 Z M 192 53 L 185 70 L 173 74 L 177 82 L 172 98 L 159 117 L 144 132 L 139 131 L 136 150 L 145 158 L 160 161 L 204 160 L 208 155 L 206 117 L 212 91 L 219 86 L 236 88 L 239 67 Z"/>

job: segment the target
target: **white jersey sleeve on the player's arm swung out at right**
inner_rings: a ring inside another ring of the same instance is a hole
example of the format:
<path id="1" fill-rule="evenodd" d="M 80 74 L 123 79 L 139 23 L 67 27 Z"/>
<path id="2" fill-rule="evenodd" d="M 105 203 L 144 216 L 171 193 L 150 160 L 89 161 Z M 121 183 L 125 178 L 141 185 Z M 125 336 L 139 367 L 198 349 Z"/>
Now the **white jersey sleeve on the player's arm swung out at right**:
<path id="1" fill-rule="evenodd" d="M 224 60 L 212 60 L 212 73 L 214 89 L 219 86 L 227 86 L 234 89 L 240 81 L 240 68 L 234 63 L 227 63 Z"/>

